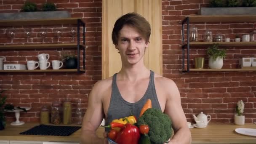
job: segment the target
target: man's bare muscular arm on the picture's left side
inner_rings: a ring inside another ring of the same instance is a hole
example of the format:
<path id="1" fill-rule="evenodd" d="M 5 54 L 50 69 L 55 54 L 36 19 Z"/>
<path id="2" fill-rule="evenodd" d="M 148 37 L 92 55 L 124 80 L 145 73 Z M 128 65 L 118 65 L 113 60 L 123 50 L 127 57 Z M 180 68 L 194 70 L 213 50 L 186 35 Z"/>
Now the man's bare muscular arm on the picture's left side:
<path id="1" fill-rule="evenodd" d="M 83 118 L 80 144 L 104 144 L 104 141 L 106 141 L 96 136 L 96 130 L 104 118 L 101 92 L 102 88 L 97 82 L 88 97 L 88 107 Z"/>

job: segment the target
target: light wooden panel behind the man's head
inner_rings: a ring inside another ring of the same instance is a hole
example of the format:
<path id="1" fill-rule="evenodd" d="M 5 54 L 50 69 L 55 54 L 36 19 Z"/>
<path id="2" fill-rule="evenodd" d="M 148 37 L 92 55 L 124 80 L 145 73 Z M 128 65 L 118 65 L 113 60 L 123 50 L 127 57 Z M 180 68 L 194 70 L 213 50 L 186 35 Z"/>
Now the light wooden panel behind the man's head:
<path id="1" fill-rule="evenodd" d="M 111 77 L 121 69 L 120 54 L 112 44 L 112 29 L 123 14 L 136 12 L 151 25 L 146 67 L 162 75 L 162 2 L 161 0 L 102 0 L 102 78 Z"/>

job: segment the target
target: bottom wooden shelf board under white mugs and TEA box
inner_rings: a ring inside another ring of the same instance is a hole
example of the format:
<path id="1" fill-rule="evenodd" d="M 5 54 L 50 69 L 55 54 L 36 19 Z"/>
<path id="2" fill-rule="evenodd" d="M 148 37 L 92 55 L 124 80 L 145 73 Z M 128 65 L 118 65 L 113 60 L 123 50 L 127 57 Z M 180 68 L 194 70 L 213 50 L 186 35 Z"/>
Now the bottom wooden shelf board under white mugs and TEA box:
<path id="1" fill-rule="evenodd" d="M 0 72 L 77 72 L 77 69 L 0 70 Z M 80 69 L 80 72 L 85 72 L 85 70 Z"/>

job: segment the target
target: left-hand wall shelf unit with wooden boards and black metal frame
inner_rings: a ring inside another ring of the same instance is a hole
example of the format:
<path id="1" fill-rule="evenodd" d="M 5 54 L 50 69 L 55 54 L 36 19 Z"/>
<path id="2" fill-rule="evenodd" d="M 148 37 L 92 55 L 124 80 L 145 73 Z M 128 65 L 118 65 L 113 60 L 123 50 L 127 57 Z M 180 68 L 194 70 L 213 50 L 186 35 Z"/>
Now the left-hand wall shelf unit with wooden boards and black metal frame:
<path id="1" fill-rule="evenodd" d="M 46 70 L 0 70 L 0 72 L 85 72 L 85 21 L 81 18 L 59 18 L 59 19 L 30 19 L 30 20 L 3 20 L 0 21 L 0 27 L 5 26 L 33 26 L 33 25 L 57 25 L 57 24 L 76 24 L 77 25 L 77 43 L 43 43 L 43 44 L 18 44 L 18 45 L 0 45 L 0 50 L 27 50 L 27 49 L 77 49 L 77 69 L 46 69 Z M 80 43 L 80 27 L 83 27 L 83 41 Z M 83 68 L 80 69 L 80 51 L 83 50 Z"/>

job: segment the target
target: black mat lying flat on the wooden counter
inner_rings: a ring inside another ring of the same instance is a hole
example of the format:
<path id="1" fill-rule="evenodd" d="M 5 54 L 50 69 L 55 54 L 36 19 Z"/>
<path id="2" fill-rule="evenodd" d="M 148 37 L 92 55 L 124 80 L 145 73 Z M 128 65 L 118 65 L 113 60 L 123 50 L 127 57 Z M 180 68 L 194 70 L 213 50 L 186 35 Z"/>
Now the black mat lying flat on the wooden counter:
<path id="1" fill-rule="evenodd" d="M 44 136 L 69 136 L 79 130 L 80 126 L 56 126 L 56 125 L 37 125 L 19 134 L 44 135 Z"/>

